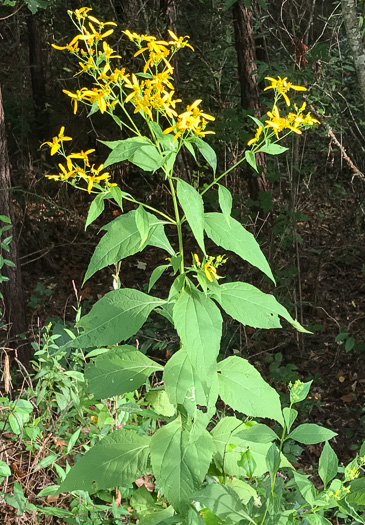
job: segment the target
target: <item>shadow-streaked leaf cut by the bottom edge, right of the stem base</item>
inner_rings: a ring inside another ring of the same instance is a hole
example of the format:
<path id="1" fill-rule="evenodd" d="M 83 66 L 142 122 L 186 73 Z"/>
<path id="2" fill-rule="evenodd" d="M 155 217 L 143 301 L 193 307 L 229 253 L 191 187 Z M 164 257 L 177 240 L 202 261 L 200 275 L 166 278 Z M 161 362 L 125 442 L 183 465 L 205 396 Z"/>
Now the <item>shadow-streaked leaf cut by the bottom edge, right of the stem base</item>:
<path id="1" fill-rule="evenodd" d="M 226 485 L 212 483 L 193 495 L 194 500 L 210 509 L 216 516 L 234 525 L 241 520 L 255 523 L 244 511 L 243 505 L 236 492 Z"/>

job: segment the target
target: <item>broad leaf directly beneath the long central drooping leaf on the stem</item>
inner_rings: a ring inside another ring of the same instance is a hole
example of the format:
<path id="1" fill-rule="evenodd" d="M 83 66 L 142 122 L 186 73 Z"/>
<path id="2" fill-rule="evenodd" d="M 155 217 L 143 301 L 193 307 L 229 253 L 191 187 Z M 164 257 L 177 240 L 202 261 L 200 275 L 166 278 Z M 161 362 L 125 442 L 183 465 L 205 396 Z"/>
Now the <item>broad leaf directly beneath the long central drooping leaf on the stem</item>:
<path id="1" fill-rule="evenodd" d="M 208 417 L 213 415 L 218 397 L 217 373 L 197 369 L 185 348 L 167 361 L 163 379 L 171 403 L 183 405 L 192 417 L 197 405 L 207 407 Z"/>

